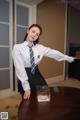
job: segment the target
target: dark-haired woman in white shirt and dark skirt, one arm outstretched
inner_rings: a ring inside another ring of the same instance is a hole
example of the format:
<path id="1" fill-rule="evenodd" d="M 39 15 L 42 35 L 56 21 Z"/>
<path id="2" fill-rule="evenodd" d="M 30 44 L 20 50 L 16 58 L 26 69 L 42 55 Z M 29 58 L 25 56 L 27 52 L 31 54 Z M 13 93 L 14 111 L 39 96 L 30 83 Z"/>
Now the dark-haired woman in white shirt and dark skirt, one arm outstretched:
<path id="1" fill-rule="evenodd" d="M 43 56 L 56 59 L 57 61 L 66 60 L 68 62 L 73 62 L 74 60 L 73 57 L 64 55 L 57 50 L 39 44 L 38 42 L 41 34 L 41 26 L 33 24 L 29 27 L 24 42 L 21 44 L 15 44 L 13 48 L 12 55 L 14 66 L 16 75 L 19 79 L 18 91 L 23 96 L 23 99 L 29 99 L 31 91 L 36 89 L 37 86 L 47 85 L 38 69 L 38 64 Z M 31 72 L 30 47 L 32 47 L 35 60 L 34 74 Z"/>

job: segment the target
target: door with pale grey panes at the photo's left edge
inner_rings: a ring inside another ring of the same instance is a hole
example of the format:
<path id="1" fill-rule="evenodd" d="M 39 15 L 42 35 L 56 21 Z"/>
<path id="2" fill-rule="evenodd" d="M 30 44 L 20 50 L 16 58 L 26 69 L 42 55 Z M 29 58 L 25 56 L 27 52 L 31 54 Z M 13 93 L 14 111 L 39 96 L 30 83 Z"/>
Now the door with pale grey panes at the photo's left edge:
<path id="1" fill-rule="evenodd" d="M 12 93 L 12 0 L 0 0 L 0 98 Z"/>

